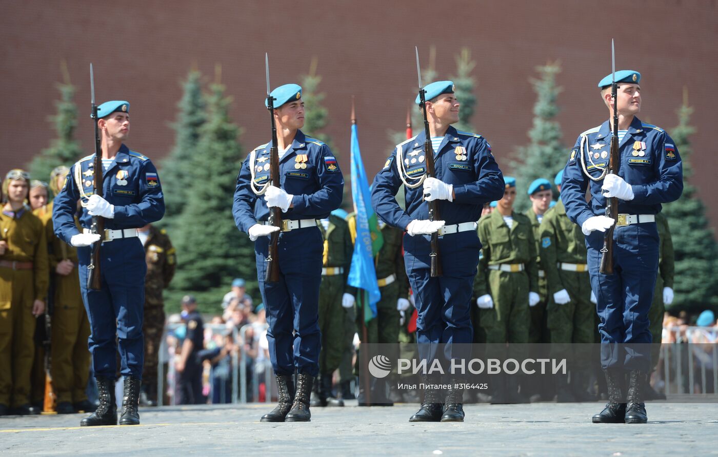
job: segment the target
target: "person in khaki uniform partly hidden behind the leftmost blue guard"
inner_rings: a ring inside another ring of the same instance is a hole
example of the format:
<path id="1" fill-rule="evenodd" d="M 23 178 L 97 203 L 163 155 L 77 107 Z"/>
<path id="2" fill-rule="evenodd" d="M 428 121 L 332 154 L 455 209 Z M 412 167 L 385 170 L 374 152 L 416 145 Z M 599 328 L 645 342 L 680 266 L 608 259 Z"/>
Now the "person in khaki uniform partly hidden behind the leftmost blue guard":
<path id="1" fill-rule="evenodd" d="M 57 194 L 70 172 L 58 166 L 50 174 L 50 191 Z M 32 192 L 31 192 L 32 201 Z M 91 413 L 95 405 L 88 401 L 85 387 L 90 376 L 90 321 L 88 321 L 78 277 L 78 250 L 55 236 L 49 204 L 34 210 L 45 226 L 52 288 L 52 334 L 50 374 L 57 395 L 57 413 Z M 79 224 L 79 222 L 78 222 Z"/>

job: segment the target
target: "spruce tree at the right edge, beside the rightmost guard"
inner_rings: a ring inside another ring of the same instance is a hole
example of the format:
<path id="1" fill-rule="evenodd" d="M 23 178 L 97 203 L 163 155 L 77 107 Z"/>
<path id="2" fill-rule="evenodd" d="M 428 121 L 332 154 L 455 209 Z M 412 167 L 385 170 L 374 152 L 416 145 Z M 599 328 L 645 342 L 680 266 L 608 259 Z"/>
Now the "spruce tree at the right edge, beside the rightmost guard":
<path id="1" fill-rule="evenodd" d="M 681 198 L 663 205 L 668 217 L 676 253 L 675 298 L 671 311 L 700 312 L 718 307 L 718 247 L 709 227 L 706 208 L 691 184 L 690 158 L 693 154 L 689 137 L 696 132 L 690 125 L 693 108 L 684 103 L 676 113 L 679 125 L 671 130 L 671 137 L 683 160 L 684 188 Z"/>

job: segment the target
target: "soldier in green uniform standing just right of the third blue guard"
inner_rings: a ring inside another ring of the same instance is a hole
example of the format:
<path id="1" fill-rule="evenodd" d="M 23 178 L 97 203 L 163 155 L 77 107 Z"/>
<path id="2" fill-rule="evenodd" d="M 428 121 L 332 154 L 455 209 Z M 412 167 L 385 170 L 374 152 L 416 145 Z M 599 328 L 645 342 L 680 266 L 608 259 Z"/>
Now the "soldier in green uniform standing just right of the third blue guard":
<path id="1" fill-rule="evenodd" d="M 516 179 L 504 176 L 505 192 L 496 209 L 479 222 L 482 243 L 474 281 L 479 322 L 487 343 L 528 343 L 529 308 L 539 301 L 536 241 L 528 217 L 513 211 Z M 493 402 L 522 401 L 518 376 L 491 382 Z M 506 396 L 508 394 L 508 397 Z"/>

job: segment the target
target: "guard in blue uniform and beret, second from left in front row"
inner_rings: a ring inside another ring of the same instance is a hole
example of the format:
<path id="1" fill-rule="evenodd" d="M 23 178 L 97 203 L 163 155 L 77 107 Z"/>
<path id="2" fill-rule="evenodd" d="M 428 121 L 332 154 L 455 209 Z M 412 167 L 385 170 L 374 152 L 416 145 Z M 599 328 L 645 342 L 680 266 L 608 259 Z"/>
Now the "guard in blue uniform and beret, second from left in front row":
<path id="1" fill-rule="evenodd" d="M 329 217 L 342 202 L 344 179 L 329 147 L 304 136 L 302 88 L 274 89 L 274 121 L 281 187 L 268 186 L 271 142 L 251 151 L 242 164 L 234 193 L 234 220 L 255 241 L 259 290 L 266 306 L 269 357 L 279 387 L 279 405 L 262 422 L 308 422 L 309 395 L 319 374 L 321 347 L 319 286 L 323 237 L 317 220 Z M 282 210 L 279 281 L 265 283 L 269 209 Z M 297 371 L 297 385 L 292 374 Z M 296 395 L 295 395 L 296 392 Z"/>

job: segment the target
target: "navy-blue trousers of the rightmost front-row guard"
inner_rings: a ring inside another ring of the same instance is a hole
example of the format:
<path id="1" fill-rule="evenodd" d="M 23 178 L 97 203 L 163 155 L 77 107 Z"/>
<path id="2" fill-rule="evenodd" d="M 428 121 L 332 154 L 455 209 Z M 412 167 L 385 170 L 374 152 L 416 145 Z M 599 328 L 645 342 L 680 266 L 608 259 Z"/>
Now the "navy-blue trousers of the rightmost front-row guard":
<path id="1" fill-rule="evenodd" d="M 600 318 L 601 365 L 651 371 L 648 310 L 658 274 L 655 222 L 615 227 L 612 275 L 599 273 L 603 233 L 586 237 L 591 288 Z"/>

